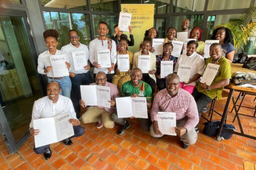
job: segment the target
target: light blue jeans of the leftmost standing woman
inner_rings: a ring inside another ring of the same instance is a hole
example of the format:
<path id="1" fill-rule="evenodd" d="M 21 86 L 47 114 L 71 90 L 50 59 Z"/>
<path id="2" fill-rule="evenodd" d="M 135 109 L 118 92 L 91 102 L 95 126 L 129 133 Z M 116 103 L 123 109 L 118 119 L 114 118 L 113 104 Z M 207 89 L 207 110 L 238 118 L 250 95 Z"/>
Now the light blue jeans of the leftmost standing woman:
<path id="1" fill-rule="evenodd" d="M 61 95 L 64 95 L 68 98 L 70 98 L 70 92 L 71 92 L 71 80 L 69 76 L 64 76 L 62 79 L 51 79 L 48 77 L 48 82 L 50 81 L 57 81 L 60 83 L 61 87 Z"/>

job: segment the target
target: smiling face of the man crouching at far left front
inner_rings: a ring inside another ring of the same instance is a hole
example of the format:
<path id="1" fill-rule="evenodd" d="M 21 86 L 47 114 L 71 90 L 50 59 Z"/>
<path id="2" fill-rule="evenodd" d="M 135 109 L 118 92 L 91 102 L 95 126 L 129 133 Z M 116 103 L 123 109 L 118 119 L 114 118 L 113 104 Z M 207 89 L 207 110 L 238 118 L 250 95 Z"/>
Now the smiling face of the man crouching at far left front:
<path id="1" fill-rule="evenodd" d="M 52 102 L 57 102 L 58 98 L 59 98 L 59 93 L 61 91 L 60 85 L 58 84 L 58 82 L 55 81 L 51 81 L 48 83 L 47 85 L 47 95 L 48 98 L 50 100 L 52 100 Z"/>

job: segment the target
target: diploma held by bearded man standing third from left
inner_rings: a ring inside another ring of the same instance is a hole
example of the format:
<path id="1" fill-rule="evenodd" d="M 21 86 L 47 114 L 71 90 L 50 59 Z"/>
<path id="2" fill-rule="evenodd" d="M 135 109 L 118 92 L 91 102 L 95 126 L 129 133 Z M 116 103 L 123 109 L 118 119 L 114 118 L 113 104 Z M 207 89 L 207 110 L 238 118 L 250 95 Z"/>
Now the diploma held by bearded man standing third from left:
<path id="1" fill-rule="evenodd" d="M 98 58 L 98 64 L 100 64 L 101 68 L 111 67 L 111 59 L 110 59 L 110 50 L 109 49 L 97 50 L 97 58 Z"/>

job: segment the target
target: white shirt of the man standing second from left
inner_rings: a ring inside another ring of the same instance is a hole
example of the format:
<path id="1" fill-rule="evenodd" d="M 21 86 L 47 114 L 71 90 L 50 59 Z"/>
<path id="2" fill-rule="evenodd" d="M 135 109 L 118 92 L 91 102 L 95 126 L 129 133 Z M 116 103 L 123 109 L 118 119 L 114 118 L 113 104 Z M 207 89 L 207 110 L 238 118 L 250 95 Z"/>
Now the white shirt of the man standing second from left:
<path id="1" fill-rule="evenodd" d="M 62 46 L 61 51 L 67 53 L 68 57 L 69 57 L 69 63 L 71 64 L 70 66 L 70 72 L 74 72 L 74 73 L 85 73 L 88 72 L 89 69 L 80 69 L 80 70 L 75 70 L 75 66 L 74 66 L 74 62 L 73 62 L 73 57 L 72 57 L 72 53 L 73 51 L 80 51 L 83 50 L 85 51 L 85 55 L 86 55 L 86 60 L 89 60 L 89 49 L 85 44 L 82 44 L 79 42 L 79 46 L 75 47 L 74 45 L 72 45 L 72 43 L 70 42 L 69 44 Z M 84 65 L 85 66 L 85 65 Z"/>

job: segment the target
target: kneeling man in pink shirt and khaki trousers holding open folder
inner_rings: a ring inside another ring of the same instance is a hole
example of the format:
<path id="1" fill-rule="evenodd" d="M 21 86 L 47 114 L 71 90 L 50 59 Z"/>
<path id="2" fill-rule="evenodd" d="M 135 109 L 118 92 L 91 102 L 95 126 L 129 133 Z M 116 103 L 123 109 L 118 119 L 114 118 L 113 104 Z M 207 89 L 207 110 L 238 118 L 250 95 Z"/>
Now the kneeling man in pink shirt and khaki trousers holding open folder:
<path id="1" fill-rule="evenodd" d="M 95 81 L 96 83 L 91 83 L 90 85 L 103 85 L 110 87 L 110 108 L 102 106 L 90 106 L 87 111 L 82 114 L 81 120 L 82 123 L 97 122 L 97 128 L 101 128 L 103 125 L 106 128 L 114 127 L 114 121 L 110 118 L 110 115 L 116 111 L 115 109 L 115 98 L 119 96 L 116 85 L 106 81 L 106 73 L 99 71 L 96 74 Z M 96 95 L 96 94 L 95 94 Z M 83 100 L 80 100 L 82 107 L 86 106 L 86 103 Z"/>

